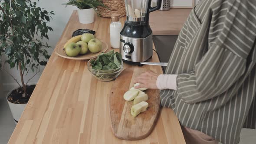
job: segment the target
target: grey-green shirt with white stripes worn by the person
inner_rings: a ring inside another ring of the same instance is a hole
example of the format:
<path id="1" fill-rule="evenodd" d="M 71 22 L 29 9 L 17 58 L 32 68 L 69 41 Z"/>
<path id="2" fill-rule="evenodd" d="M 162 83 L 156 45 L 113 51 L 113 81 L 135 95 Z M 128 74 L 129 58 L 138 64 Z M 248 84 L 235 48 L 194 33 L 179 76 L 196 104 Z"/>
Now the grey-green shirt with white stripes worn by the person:
<path id="1" fill-rule="evenodd" d="M 242 128 L 256 129 L 256 0 L 201 0 L 191 11 L 166 69 L 177 90 L 161 104 L 180 123 L 237 144 Z"/>

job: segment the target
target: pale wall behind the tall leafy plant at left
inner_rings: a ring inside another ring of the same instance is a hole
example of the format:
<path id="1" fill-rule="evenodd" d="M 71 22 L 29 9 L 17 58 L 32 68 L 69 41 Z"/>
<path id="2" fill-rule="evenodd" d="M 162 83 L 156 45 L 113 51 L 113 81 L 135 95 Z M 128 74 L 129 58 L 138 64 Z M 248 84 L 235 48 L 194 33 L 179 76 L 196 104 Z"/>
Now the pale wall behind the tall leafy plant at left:
<path id="1" fill-rule="evenodd" d="M 33 0 L 36 1 L 38 7 L 46 8 L 47 11 L 54 11 L 55 15 L 53 15 L 53 20 L 50 20 L 49 26 L 53 28 L 53 32 L 49 32 L 49 46 L 52 46 L 53 49 L 56 43 L 59 41 L 60 36 L 62 35 L 62 31 L 64 30 L 67 22 L 69 21 L 69 17 L 71 16 L 73 10 L 77 10 L 76 7 L 62 5 L 62 3 L 66 3 L 68 0 Z M 53 52 L 53 49 L 49 50 L 49 53 Z M 4 58 L 1 58 L 2 60 Z M 8 65 L 5 66 L 5 69 L 10 72 L 19 82 L 20 76 L 17 69 L 10 69 Z M 40 72 L 30 80 L 30 83 L 36 83 L 43 72 L 43 67 L 40 68 Z M 25 82 L 30 79 L 33 73 L 29 73 L 25 77 Z M 6 72 L 0 72 L 0 83 L 3 83 L 3 90 L 10 90 L 13 87 L 16 87 L 16 82 L 8 75 Z"/>

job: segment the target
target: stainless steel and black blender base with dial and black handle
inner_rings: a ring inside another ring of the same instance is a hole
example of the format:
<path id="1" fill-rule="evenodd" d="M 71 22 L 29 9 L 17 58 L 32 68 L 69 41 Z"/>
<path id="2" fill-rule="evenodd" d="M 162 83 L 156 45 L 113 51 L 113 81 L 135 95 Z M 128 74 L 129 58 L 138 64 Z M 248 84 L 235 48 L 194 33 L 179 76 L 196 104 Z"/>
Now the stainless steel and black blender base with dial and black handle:
<path id="1" fill-rule="evenodd" d="M 143 17 L 130 17 L 127 15 L 125 25 L 120 32 L 120 54 L 124 61 L 145 62 L 153 54 L 152 30 L 149 26 L 149 13 L 161 7 L 158 0 L 156 7 L 150 7 Z"/>

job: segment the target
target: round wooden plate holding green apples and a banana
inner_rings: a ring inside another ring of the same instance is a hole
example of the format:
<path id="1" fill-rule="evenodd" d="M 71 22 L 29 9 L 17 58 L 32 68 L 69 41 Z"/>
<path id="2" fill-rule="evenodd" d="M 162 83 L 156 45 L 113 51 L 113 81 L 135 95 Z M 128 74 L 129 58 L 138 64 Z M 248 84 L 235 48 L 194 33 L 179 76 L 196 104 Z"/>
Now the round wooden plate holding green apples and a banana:
<path id="1" fill-rule="evenodd" d="M 66 55 L 66 52 L 63 50 L 64 45 L 56 46 L 56 48 L 54 49 L 54 52 L 56 52 L 57 55 L 59 55 L 63 58 L 66 58 L 66 59 L 75 59 L 75 60 L 93 59 L 93 58 L 97 57 L 100 53 L 108 50 L 108 44 L 106 42 L 104 42 L 103 40 L 101 40 L 101 42 L 102 42 L 102 50 L 97 53 L 92 53 L 92 52 L 88 51 L 85 55 L 78 55 L 76 57 L 71 57 L 71 56 Z"/>

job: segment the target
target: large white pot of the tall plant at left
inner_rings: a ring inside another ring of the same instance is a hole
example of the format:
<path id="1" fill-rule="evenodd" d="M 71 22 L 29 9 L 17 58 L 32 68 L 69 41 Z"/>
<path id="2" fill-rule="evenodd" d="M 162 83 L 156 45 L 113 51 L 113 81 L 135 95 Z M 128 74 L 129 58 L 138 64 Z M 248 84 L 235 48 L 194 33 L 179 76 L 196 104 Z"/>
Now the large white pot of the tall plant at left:
<path id="1" fill-rule="evenodd" d="M 35 85 L 35 84 L 33 84 L 33 85 Z M 14 103 L 8 101 L 8 96 L 11 94 L 11 92 L 13 90 L 15 90 L 17 88 L 19 88 L 19 87 L 13 88 L 10 92 L 8 92 L 7 97 L 6 97 L 8 105 L 9 105 L 10 110 L 12 112 L 15 124 L 17 124 L 18 121 L 20 120 L 20 116 L 21 116 L 21 114 L 23 113 L 23 111 L 26 107 L 26 104 L 14 104 Z"/>

